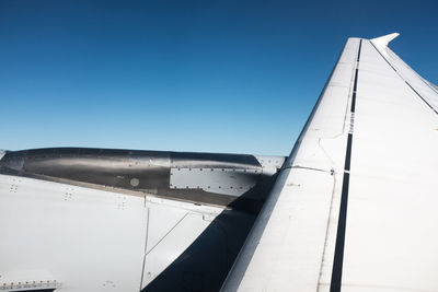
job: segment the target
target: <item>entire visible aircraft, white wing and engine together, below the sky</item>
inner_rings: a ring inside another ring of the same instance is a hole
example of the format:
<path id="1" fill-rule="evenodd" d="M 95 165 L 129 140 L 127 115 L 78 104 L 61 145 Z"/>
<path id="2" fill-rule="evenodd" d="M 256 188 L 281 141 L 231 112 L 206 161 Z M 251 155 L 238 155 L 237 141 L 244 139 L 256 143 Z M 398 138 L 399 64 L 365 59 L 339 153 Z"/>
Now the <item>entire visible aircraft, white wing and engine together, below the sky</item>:
<path id="1" fill-rule="evenodd" d="M 437 291 L 438 90 L 395 36 L 347 40 L 286 161 L 1 151 L 0 291 Z"/>

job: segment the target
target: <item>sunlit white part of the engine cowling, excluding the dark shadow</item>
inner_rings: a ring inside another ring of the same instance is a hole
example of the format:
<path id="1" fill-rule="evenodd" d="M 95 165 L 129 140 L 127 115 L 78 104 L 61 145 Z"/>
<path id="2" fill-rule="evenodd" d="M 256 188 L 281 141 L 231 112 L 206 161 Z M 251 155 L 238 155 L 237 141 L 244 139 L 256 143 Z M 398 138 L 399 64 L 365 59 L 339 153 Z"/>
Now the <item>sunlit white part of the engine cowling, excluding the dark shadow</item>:
<path id="1" fill-rule="evenodd" d="M 221 211 L 0 175 L 0 291 L 139 291 Z"/>

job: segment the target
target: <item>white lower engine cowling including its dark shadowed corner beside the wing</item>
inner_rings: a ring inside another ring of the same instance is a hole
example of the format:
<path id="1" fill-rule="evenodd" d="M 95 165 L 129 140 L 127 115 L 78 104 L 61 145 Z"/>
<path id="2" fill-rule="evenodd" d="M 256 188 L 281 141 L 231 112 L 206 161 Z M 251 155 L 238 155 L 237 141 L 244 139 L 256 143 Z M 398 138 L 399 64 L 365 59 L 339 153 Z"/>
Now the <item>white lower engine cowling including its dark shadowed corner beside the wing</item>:
<path id="1" fill-rule="evenodd" d="M 0 175 L 0 291 L 218 291 L 254 219 Z"/>

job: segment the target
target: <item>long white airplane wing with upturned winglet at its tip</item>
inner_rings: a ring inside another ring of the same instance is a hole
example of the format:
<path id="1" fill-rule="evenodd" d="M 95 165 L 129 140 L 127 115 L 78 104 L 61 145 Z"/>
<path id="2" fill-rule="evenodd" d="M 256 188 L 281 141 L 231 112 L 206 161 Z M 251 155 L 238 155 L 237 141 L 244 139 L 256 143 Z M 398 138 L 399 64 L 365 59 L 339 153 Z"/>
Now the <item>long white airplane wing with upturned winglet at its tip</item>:
<path id="1" fill-rule="evenodd" d="M 349 38 L 222 291 L 437 291 L 438 91 Z"/>

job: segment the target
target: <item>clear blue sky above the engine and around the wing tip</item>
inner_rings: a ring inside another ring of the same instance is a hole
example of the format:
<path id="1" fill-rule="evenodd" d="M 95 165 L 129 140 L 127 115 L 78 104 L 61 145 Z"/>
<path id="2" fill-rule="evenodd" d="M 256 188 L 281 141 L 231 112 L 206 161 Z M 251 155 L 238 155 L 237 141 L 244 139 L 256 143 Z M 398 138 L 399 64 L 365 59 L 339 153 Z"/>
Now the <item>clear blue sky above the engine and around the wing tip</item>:
<path id="1" fill-rule="evenodd" d="M 438 1 L 0 1 L 0 149 L 287 155 L 348 36 L 438 83 Z"/>

